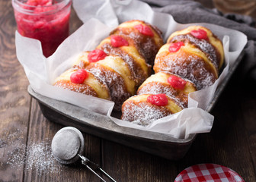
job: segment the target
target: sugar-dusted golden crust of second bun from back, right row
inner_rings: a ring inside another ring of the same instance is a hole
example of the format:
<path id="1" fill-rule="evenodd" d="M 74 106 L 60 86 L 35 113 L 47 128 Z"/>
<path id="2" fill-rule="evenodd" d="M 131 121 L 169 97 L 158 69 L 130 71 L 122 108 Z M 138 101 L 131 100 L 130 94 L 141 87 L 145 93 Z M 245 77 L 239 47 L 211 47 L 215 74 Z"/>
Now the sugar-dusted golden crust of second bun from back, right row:
<path id="1" fill-rule="evenodd" d="M 212 85 L 218 78 L 216 67 L 202 52 L 186 43 L 178 52 L 169 52 L 170 44 L 165 44 L 155 58 L 154 71 L 168 71 L 177 74 L 196 84 L 197 89 Z"/>

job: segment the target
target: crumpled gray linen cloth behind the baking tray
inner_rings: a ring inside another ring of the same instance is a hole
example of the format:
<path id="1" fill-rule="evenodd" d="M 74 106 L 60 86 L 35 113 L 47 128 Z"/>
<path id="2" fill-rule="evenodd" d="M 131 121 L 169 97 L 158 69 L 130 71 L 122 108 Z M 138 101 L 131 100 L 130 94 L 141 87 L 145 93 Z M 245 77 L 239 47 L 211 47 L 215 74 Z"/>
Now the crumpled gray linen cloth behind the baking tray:
<path id="1" fill-rule="evenodd" d="M 190 0 L 142 0 L 154 11 L 171 14 L 180 24 L 209 23 L 241 31 L 248 36 L 245 56 L 239 65 L 241 78 L 251 77 L 256 81 L 256 29 L 255 21 L 241 14 L 222 14 L 216 9 L 204 8 Z"/>

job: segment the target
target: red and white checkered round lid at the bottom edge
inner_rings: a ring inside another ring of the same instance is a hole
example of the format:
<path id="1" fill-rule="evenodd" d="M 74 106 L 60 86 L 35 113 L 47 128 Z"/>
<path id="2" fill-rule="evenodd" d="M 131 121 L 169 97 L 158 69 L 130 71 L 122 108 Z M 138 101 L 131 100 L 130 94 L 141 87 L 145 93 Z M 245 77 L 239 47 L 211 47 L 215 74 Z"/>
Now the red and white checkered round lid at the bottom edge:
<path id="1" fill-rule="evenodd" d="M 181 171 L 174 182 L 245 182 L 235 171 L 222 165 L 193 165 Z"/>

